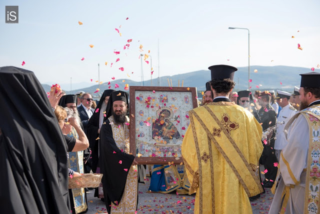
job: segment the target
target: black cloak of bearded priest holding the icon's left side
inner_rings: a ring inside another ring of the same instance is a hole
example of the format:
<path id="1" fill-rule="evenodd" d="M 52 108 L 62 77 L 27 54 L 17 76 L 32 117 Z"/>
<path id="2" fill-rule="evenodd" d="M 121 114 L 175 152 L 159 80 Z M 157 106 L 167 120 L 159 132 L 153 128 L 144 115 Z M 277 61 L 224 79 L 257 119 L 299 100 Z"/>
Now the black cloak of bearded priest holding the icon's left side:
<path id="1" fill-rule="evenodd" d="M 110 213 L 111 202 L 120 202 L 122 198 L 126 177 L 128 175 L 128 171 L 124 171 L 123 168 L 130 168 L 134 156 L 121 152 L 116 146 L 108 119 L 106 119 L 105 124 L 101 126 L 99 146 L 99 163 L 100 173 L 103 174 L 104 202 L 108 213 Z M 119 160 L 122 160 L 121 166 L 117 164 Z"/>

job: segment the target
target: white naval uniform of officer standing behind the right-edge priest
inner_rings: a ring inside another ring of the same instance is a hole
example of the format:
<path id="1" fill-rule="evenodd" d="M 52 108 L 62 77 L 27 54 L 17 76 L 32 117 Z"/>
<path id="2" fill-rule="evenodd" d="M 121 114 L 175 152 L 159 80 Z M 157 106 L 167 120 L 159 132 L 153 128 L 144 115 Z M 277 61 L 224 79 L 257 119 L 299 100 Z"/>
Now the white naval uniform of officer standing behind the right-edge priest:
<path id="1" fill-rule="evenodd" d="M 287 144 L 287 140 L 283 133 L 283 128 L 286 125 L 286 122 L 289 121 L 289 119 L 296 113 L 296 109 L 290 105 L 287 104 L 284 106 L 278 115 L 277 121 L 284 121 L 284 124 L 277 124 L 276 126 L 276 133 L 275 133 L 275 141 L 274 141 L 274 149 L 276 158 L 279 160 L 280 152 L 284 148 L 284 146 Z"/>

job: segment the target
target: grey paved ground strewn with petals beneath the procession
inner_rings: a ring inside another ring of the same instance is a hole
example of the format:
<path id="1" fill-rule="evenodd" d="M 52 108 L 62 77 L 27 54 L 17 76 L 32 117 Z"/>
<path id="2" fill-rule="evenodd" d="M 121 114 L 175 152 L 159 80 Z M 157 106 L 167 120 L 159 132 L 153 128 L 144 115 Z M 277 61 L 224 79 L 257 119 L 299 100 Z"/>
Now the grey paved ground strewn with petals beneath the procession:
<path id="1" fill-rule="evenodd" d="M 177 195 L 175 191 L 168 194 L 148 193 L 149 184 L 149 177 L 145 184 L 139 183 L 139 201 L 137 213 L 193 213 L 195 194 Z M 265 191 L 266 192 L 261 194 L 259 199 L 251 201 L 251 207 L 254 214 L 268 213 L 273 194 L 269 188 L 266 188 Z M 87 213 L 106 213 L 104 203 L 93 195 L 94 190 L 87 192 Z"/>

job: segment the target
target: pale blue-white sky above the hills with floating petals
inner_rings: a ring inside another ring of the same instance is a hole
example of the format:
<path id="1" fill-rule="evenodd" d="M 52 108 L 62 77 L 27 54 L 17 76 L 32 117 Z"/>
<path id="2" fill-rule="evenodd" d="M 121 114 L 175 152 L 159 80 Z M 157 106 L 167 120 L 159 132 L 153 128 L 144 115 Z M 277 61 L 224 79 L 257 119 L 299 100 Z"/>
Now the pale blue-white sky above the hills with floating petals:
<path id="1" fill-rule="evenodd" d="M 248 31 L 228 27 L 250 30 L 252 72 L 254 65 L 317 71 L 320 64 L 318 0 L 1 0 L 3 13 L 5 5 L 19 6 L 19 23 L 0 15 L 0 66 L 32 70 L 41 83 L 94 83 L 98 63 L 100 81 L 140 81 L 145 53 L 144 80 L 151 77 L 150 58 L 152 78 L 214 64 L 247 66 Z"/>

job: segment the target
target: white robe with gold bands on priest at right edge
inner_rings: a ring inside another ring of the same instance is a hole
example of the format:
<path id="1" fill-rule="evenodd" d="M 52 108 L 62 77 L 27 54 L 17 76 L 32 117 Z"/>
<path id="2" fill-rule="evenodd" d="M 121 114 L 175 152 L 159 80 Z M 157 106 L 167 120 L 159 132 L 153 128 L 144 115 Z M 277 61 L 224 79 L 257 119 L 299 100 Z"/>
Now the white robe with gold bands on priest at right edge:
<path id="1" fill-rule="evenodd" d="M 305 175 L 309 148 L 309 126 L 303 115 L 298 115 L 291 124 L 287 141 L 289 142 L 282 150 L 279 159 L 281 179 L 276 188 L 269 214 L 279 213 L 282 202 L 282 192 L 285 186 L 290 184 L 290 196 L 286 205 L 285 213 L 303 213 Z"/>

